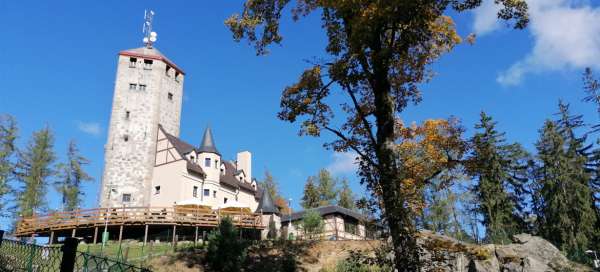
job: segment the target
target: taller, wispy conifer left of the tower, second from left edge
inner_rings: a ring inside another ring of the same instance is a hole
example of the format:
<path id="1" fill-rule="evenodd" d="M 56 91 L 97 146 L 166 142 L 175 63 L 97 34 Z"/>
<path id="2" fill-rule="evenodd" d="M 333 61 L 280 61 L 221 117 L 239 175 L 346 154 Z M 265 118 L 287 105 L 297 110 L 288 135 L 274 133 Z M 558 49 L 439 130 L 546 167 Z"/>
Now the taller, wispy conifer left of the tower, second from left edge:
<path id="1" fill-rule="evenodd" d="M 55 155 L 54 136 L 46 127 L 33 133 L 33 137 L 22 152 L 18 152 L 16 165 L 18 191 L 17 205 L 20 216 L 31 216 L 46 208 L 46 192 Z"/>

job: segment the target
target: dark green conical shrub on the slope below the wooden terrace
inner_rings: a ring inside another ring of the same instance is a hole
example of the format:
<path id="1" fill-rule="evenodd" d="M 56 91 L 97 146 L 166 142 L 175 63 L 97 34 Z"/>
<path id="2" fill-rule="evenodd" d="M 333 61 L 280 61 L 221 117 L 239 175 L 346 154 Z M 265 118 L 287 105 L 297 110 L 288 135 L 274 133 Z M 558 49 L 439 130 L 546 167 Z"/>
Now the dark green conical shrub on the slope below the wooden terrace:
<path id="1" fill-rule="evenodd" d="M 240 271 L 246 259 L 247 245 L 239 238 L 239 231 L 233 226 L 231 218 L 221 220 L 217 231 L 208 237 L 206 262 L 214 271 Z"/>

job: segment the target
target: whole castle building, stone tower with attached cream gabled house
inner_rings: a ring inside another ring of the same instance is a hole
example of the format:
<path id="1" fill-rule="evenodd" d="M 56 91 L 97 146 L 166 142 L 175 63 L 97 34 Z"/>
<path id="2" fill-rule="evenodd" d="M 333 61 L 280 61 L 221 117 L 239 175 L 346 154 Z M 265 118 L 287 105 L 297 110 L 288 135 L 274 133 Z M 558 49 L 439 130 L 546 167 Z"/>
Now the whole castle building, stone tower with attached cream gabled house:
<path id="1" fill-rule="evenodd" d="M 155 35 L 155 34 L 154 34 Z M 119 53 L 100 207 L 258 208 L 252 154 L 228 161 L 210 128 L 200 145 L 179 138 L 185 72 L 153 47 Z"/>

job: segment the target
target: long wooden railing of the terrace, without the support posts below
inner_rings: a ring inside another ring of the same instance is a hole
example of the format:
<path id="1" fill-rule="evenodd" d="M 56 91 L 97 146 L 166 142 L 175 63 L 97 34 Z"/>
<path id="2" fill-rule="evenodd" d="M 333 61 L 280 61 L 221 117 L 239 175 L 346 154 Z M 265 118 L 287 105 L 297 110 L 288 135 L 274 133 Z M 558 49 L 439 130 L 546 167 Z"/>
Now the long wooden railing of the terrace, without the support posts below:
<path id="1" fill-rule="evenodd" d="M 224 217 L 243 228 L 262 229 L 261 214 L 241 211 L 206 210 L 180 207 L 112 207 L 56 212 L 19 220 L 17 236 L 52 230 L 88 228 L 114 225 L 182 225 L 217 226 Z"/>

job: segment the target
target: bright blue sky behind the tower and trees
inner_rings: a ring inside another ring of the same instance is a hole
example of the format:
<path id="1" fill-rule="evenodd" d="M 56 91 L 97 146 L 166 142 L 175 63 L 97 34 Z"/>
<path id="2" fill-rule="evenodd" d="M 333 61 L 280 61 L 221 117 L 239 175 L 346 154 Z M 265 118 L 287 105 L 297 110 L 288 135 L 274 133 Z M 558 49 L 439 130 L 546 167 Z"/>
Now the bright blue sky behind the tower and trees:
<path id="1" fill-rule="evenodd" d="M 209 3 L 210 4 L 206 4 Z M 485 2 L 485 1 L 484 1 Z M 530 0 L 532 24 L 516 31 L 498 23 L 488 1 L 460 14 L 459 34 L 477 33 L 433 65 L 436 77 L 423 86 L 423 102 L 404 120 L 460 118 L 473 132 L 481 110 L 491 114 L 510 141 L 531 149 L 559 98 L 596 122 L 584 104 L 581 73 L 600 65 L 600 11 L 580 0 Z M 97 203 L 116 73 L 117 53 L 141 46 L 143 11 L 156 11 L 159 48 L 187 75 L 181 138 L 199 144 L 207 125 L 226 159 L 253 153 L 259 179 L 269 169 L 297 207 L 308 175 L 329 167 L 362 192 L 350 156 L 322 148 L 321 139 L 297 136 L 297 125 L 279 121 L 281 90 L 323 53 L 318 16 L 283 20 L 283 45 L 257 57 L 235 43 L 223 21 L 242 1 L 1 1 L 0 114 L 14 115 L 21 146 L 49 125 L 64 158 L 75 139 L 91 161 L 96 182 L 85 186 L 85 207 Z M 492 15 L 490 15 L 492 14 Z M 51 208 L 59 198 L 49 193 Z"/>

